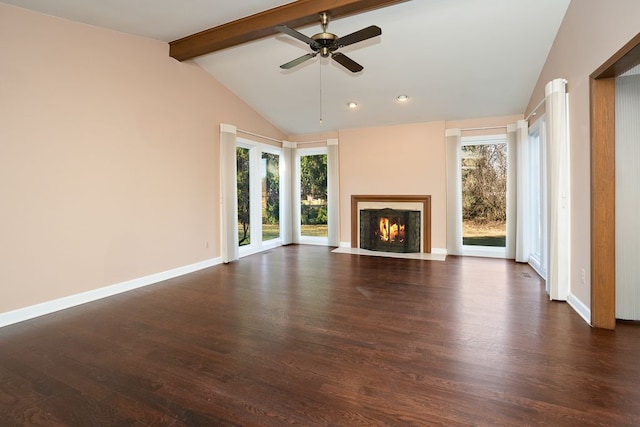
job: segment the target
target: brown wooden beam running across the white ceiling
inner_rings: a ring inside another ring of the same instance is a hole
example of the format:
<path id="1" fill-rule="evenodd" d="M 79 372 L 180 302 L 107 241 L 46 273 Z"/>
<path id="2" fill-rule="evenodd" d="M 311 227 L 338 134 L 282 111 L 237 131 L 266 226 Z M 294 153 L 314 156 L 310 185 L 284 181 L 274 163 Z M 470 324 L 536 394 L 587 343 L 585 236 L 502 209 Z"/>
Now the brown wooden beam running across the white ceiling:
<path id="1" fill-rule="evenodd" d="M 298 0 L 247 16 L 169 43 L 169 55 L 178 61 L 268 37 L 276 25 L 297 28 L 319 22 L 318 14 L 332 18 L 353 15 L 407 0 Z"/>

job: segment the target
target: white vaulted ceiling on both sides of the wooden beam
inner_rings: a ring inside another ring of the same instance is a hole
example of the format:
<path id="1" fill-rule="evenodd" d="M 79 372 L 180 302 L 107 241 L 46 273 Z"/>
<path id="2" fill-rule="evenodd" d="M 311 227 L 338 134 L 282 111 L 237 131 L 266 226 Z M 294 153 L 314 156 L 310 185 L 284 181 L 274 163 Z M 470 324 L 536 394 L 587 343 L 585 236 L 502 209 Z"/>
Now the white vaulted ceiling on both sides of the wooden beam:
<path id="1" fill-rule="evenodd" d="M 282 0 L 3 0 L 100 27 L 172 41 L 270 9 Z M 195 61 L 289 135 L 521 114 L 570 0 L 410 0 L 336 19 L 338 36 L 377 25 L 382 35 L 342 48 L 353 74 L 277 35 Z M 320 25 L 298 30 L 308 36 Z M 322 64 L 322 65 L 320 65 Z M 408 95 L 400 104 L 397 95 Z M 349 110 L 355 101 L 358 108 Z M 322 112 L 321 112 L 322 110 Z M 322 124 L 320 117 L 323 118 Z"/>

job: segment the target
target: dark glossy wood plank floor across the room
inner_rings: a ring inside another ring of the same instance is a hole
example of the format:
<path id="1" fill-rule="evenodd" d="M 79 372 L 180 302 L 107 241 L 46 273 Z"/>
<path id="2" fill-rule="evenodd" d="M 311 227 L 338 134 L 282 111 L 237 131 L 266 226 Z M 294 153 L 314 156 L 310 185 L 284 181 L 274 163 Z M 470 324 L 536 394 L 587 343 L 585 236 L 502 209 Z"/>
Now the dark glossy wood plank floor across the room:
<path id="1" fill-rule="evenodd" d="M 640 425 L 640 328 L 526 265 L 288 246 L 0 329 L 0 425 Z"/>

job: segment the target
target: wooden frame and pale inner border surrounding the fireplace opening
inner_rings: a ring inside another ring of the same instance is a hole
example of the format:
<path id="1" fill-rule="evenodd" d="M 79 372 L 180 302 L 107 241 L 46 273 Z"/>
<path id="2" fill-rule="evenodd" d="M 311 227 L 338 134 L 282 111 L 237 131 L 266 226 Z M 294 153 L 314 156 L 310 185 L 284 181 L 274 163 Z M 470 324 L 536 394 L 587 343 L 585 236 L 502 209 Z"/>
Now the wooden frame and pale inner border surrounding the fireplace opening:
<path id="1" fill-rule="evenodd" d="M 402 209 L 403 204 L 421 206 L 422 247 L 421 252 L 431 253 L 431 196 L 429 195 L 352 195 L 351 196 L 351 247 L 360 247 L 360 211 L 375 203 L 382 209 Z M 409 209 L 413 210 L 413 209 Z M 376 249 L 385 250 L 385 249 Z"/>

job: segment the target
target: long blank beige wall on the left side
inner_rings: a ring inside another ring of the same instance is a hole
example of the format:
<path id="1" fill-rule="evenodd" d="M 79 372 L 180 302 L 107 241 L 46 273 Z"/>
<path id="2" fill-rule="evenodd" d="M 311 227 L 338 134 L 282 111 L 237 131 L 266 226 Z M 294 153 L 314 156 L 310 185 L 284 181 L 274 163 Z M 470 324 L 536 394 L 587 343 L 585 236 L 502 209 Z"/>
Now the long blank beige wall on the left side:
<path id="1" fill-rule="evenodd" d="M 285 139 L 158 41 L 0 4 L 0 313 L 219 256 L 219 123 Z"/>

